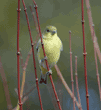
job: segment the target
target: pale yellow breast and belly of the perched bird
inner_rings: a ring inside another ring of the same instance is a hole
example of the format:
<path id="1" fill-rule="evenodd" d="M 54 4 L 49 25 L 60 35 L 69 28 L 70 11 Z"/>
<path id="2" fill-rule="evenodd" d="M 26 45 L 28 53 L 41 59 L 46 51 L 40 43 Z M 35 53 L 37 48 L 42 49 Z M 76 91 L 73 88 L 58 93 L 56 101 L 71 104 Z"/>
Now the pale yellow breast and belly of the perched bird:
<path id="1" fill-rule="evenodd" d="M 56 64 L 60 57 L 60 43 L 58 40 L 43 40 L 44 49 L 49 64 Z M 39 50 L 39 57 L 44 58 L 43 49 Z"/>

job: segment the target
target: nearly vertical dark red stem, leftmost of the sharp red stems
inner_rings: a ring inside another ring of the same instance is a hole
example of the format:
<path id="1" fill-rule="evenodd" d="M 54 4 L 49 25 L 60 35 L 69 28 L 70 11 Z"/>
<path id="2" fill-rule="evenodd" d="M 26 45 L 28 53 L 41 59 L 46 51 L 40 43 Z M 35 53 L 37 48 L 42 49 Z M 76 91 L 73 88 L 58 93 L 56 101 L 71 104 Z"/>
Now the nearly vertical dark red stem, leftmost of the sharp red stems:
<path id="1" fill-rule="evenodd" d="M 19 68 L 19 57 L 20 57 L 20 51 L 19 51 L 19 27 L 20 27 L 20 0 L 18 0 L 18 18 L 17 18 L 17 77 L 18 77 L 18 98 L 19 98 L 19 108 L 22 110 L 22 103 L 21 103 L 21 96 L 20 96 L 20 68 Z"/>

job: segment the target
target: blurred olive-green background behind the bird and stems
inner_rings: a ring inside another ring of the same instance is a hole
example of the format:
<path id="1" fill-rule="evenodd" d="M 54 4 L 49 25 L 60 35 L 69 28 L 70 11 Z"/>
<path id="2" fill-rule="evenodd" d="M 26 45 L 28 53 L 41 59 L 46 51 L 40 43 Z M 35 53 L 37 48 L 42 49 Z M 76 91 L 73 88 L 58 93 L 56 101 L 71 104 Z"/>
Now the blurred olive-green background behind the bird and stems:
<path id="1" fill-rule="evenodd" d="M 85 80 L 84 80 L 84 67 L 83 67 L 83 37 L 81 25 L 81 1 L 79 0 L 36 0 L 38 5 L 38 13 L 41 31 L 47 25 L 54 25 L 57 27 L 58 36 L 63 42 L 63 52 L 61 53 L 58 66 L 64 76 L 67 84 L 71 88 L 70 76 L 70 55 L 69 55 L 69 30 L 72 31 L 72 52 L 73 52 L 73 73 L 75 73 L 75 55 L 78 56 L 78 79 L 79 89 L 81 96 L 81 104 L 83 110 L 86 110 L 85 98 Z M 32 0 L 25 0 L 27 13 L 29 17 L 33 41 L 37 35 L 29 5 L 33 6 Z M 98 39 L 99 47 L 101 49 L 101 1 L 90 0 L 93 22 L 95 24 L 95 32 Z M 7 84 L 9 86 L 10 98 L 13 107 L 17 104 L 17 94 L 14 89 L 17 88 L 17 56 L 16 56 L 16 38 L 17 38 L 17 0 L 3 0 L 0 3 L 0 56 L 3 64 L 4 72 L 7 77 Z M 33 8 L 34 10 L 34 8 Z M 35 10 L 34 10 L 35 11 Z M 100 110 L 100 98 L 98 92 L 96 68 L 94 59 L 94 49 L 89 28 L 87 17 L 86 5 L 84 4 L 84 17 L 85 17 L 85 38 L 86 38 L 86 51 L 87 51 L 87 75 L 88 75 L 88 88 L 89 88 L 89 108 L 90 110 Z M 20 48 L 22 51 L 23 61 L 25 62 L 28 52 L 31 48 L 29 32 L 24 13 L 24 8 L 21 1 L 20 13 Z M 36 55 L 36 51 L 35 51 Z M 40 78 L 40 71 L 38 60 L 36 57 L 37 73 Z M 100 63 L 99 74 L 101 73 Z M 22 68 L 20 68 L 22 76 Z M 21 77 L 22 78 L 22 77 Z M 75 77 L 74 77 L 75 78 Z M 57 75 L 53 70 L 53 80 L 57 89 Z M 49 81 L 49 80 L 48 80 Z M 26 83 L 28 90 L 35 84 L 34 66 L 32 55 L 26 70 Z M 50 81 L 48 82 L 50 83 Z M 4 94 L 3 82 L 0 76 L 0 110 L 7 110 L 7 103 Z M 44 110 L 54 110 L 52 100 L 45 85 L 40 85 L 40 92 Z M 27 90 L 27 91 L 28 91 Z M 72 100 L 62 86 L 62 108 L 63 110 L 72 110 Z M 76 89 L 75 89 L 76 95 Z M 71 107 L 70 107 L 71 105 Z M 35 89 L 29 96 L 30 110 L 40 110 L 40 103 Z M 23 105 L 26 110 L 26 103 Z M 77 108 L 78 110 L 78 108 Z"/>

